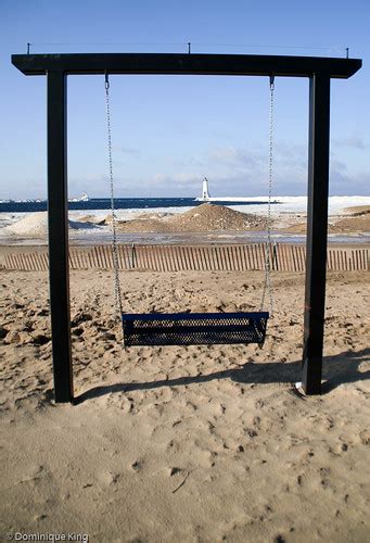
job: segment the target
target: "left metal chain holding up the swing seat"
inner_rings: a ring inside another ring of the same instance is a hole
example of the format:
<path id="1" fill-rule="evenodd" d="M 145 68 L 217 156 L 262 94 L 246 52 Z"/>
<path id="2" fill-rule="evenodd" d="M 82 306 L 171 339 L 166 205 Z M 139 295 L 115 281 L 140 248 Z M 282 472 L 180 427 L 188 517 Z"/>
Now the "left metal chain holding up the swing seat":
<path id="1" fill-rule="evenodd" d="M 123 313 L 120 285 L 119 285 L 119 263 L 117 251 L 117 220 L 114 209 L 114 182 L 113 182 L 113 160 L 112 160 L 112 130 L 111 130 L 111 104 L 110 104 L 110 79 L 105 74 L 105 104 L 106 104 L 106 128 L 107 128 L 107 154 L 110 164 L 110 185 L 111 185 L 111 211 L 112 211 L 112 256 L 114 268 L 114 295 L 119 318 Z"/>

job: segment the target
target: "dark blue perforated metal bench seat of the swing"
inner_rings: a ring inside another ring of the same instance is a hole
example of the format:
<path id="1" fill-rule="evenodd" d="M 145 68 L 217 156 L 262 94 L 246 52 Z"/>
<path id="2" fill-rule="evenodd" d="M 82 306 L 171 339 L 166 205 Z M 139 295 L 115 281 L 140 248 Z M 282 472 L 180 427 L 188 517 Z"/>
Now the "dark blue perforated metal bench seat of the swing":
<path id="1" fill-rule="evenodd" d="M 150 313 L 123 314 L 125 346 L 264 344 L 269 314 Z"/>

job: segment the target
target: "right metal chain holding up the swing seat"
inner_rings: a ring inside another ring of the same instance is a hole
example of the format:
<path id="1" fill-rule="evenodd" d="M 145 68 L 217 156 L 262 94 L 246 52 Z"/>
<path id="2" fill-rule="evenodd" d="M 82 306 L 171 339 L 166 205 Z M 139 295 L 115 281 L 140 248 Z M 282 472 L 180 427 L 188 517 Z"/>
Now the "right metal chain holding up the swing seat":
<path id="1" fill-rule="evenodd" d="M 269 155 L 268 155 L 268 204 L 267 204 L 267 243 L 265 245 L 265 285 L 260 302 L 260 311 L 265 306 L 268 294 L 270 316 L 273 314 L 272 286 L 271 286 L 271 200 L 272 200 L 272 166 L 273 166 L 273 90 L 275 78 L 270 76 L 270 122 L 269 122 Z"/>

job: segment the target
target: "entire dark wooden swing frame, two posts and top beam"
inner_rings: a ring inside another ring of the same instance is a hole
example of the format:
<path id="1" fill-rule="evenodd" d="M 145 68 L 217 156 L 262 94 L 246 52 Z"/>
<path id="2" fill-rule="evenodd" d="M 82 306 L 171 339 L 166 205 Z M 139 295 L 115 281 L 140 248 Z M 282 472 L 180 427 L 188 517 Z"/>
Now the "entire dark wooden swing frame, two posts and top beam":
<path id="1" fill-rule="evenodd" d="M 307 251 L 302 388 L 320 394 L 329 195 L 330 84 L 347 79 L 360 59 L 244 54 L 14 54 L 25 75 L 48 79 L 48 222 L 55 402 L 74 402 L 67 228 L 67 76 L 166 74 L 306 77 L 309 79 Z"/>

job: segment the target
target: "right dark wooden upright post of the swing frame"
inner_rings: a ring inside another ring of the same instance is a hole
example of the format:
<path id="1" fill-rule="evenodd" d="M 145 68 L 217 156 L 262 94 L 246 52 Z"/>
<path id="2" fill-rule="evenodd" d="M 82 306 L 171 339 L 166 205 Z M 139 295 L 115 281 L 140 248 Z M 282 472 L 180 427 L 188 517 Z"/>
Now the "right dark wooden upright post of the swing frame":
<path id="1" fill-rule="evenodd" d="M 320 394 L 326 305 L 329 197 L 330 76 L 314 74 L 309 88 L 307 258 L 302 387 Z"/>

